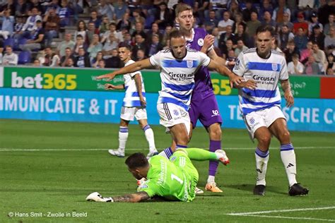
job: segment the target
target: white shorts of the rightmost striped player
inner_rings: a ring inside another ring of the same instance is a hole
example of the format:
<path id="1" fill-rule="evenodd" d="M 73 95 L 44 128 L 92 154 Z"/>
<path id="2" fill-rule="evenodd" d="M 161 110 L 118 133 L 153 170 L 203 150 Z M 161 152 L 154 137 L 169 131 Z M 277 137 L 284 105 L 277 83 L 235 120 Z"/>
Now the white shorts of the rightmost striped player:
<path id="1" fill-rule="evenodd" d="M 247 130 L 249 131 L 249 136 L 252 141 L 254 141 L 254 133 L 258 128 L 265 126 L 269 128 L 276 119 L 286 119 L 283 111 L 278 106 L 270 107 L 269 109 L 253 111 L 246 116 L 243 116 L 245 121 L 245 126 L 247 126 Z"/>

